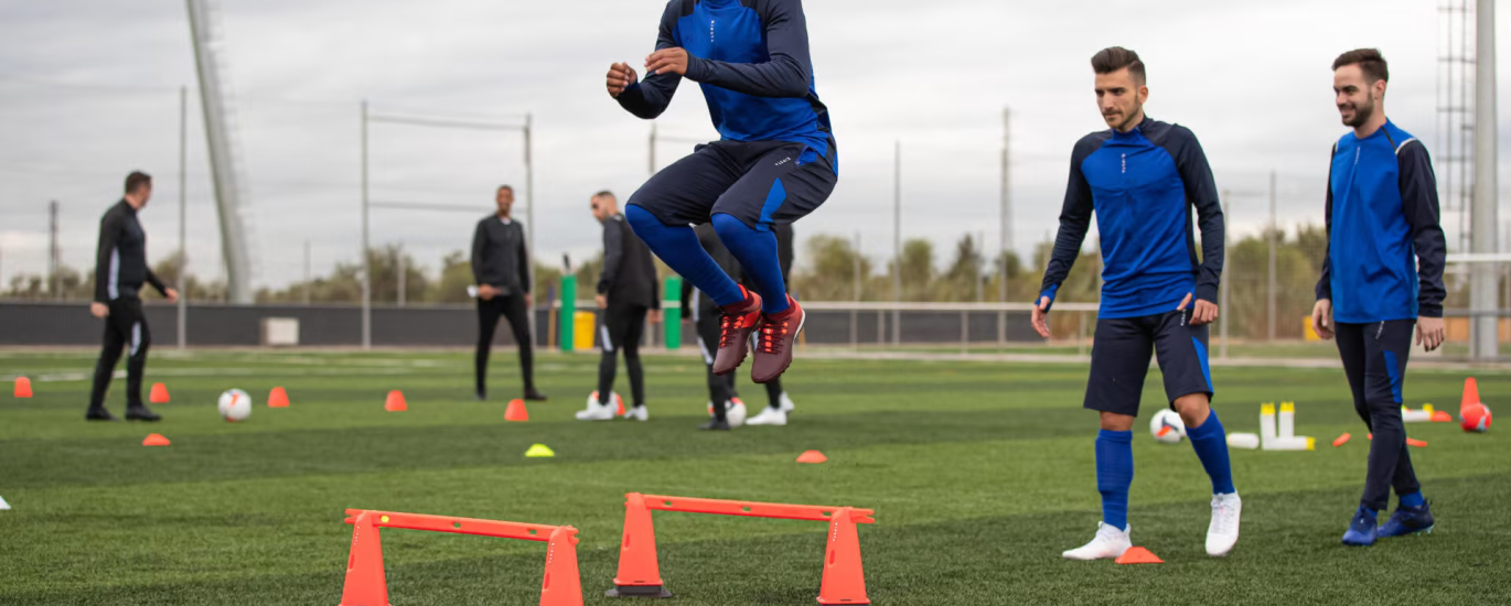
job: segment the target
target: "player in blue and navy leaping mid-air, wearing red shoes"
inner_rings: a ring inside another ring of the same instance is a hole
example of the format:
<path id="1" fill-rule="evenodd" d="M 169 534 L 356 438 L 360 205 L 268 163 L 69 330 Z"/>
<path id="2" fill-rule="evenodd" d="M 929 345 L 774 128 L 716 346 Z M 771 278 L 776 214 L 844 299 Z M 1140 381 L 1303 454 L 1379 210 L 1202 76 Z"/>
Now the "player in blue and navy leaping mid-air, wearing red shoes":
<path id="1" fill-rule="evenodd" d="M 802 307 L 783 284 L 772 225 L 811 213 L 834 190 L 839 160 L 828 109 L 808 59 L 801 0 L 671 0 L 645 79 L 609 66 L 609 95 L 653 119 L 677 85 L 703 86 L 719 141 L 698 145 L 647 181 L 626 206 L 635 234 L 722 311 L 713 370 L 733 372 L 757 335 L 751 379 L 792 364 Z M 756 292 L 740 287 L 698 245 L 691 225 L 712 222 Z"/>

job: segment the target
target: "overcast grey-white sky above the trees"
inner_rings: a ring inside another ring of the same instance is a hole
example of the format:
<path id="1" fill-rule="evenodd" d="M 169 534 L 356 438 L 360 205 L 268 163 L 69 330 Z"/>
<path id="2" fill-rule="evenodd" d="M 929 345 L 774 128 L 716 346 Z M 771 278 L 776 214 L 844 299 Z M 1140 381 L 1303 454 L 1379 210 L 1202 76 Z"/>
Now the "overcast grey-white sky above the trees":
<path id="1" fill-rule="evenodd" d="M 600 231 L 588 196 L 612 189 L 623 199 L 647 177 L 650 124 L 609 100 L 603 73 L 610 62 L 642 62 L 665 0 L 222 5 L 258 286 L 301 278 L 305 242 L 317 274 L 357 260 L 363 98 L 390 113 L 502 122 L 532 113 L 530 228 L 542 258 L 592 254 Z M 858 233 L 867 254 L 890 255 L 891 153 L 901 141 L 904 237 L 935 240 L 941 257 L 966 231 L 994 246 L 1002 109 L 1011 106 L 1014 239 L 1031 249 L 1056 225 L 1071 145 L 1103 128 L 1088 57 L 1108 45 L 1142 54 L 1151 116 L 1197 133 L 1218 187 L 1236 192 L 1228 218 L 1236 231 L 1266 221 L 1271 169 L 1280 174 L 1281 221 L 1319 221 L 1325 153 L 1345 131 L 1331 104 L 1337 53 L 1380 47 L 1392 68 L 1389 115 L 1437 145 L 1437 5 L 810 0 L 840 183 L 799 222 L 799 237 Z M 1502 35 L 1506 21 L 1502 15 Z M 1508 70 L 1502 62 L 1502 80 Z M 130 169 L 157 177 L 142 215 L 150 254 L 177 246 L 181 85 L 190 86 L 192 271 L 222 274 L 195 82 L 183 2 L 0 3 L 0 280 L 45 267 L 48 199 L 63 209 L 63 261 L 92 266 L 98 216 Z M 684 83 L 660 131 L 715 138 L 701 97 Z M 1505 97 L 1500 124 L 1511 133 Z M 381 124 L 370 141 L 373 199 L 477 206 L 476 213 L 373 213 L 375 243 L 402 242 L 431 267 L 467 246 L 494 186 L 526 193 L 518 134 Z M 689 150 L 665 142 L 659 165 Z M 1502 184 L 1511 186 L 1503 177 Z M 517 210 L 523 218 L 523 204 Z M 1457 225 L 1445 213 L 1451 246 Z"/>

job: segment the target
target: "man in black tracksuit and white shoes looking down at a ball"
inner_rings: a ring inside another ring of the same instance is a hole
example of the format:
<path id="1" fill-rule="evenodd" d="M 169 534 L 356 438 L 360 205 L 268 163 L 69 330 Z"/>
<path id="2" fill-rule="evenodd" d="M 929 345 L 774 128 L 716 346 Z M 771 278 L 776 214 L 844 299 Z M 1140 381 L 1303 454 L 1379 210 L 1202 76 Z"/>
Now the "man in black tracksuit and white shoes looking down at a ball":
<path id="1" fill-rule="evenodd" d="M 597 296 L 598 308 L 603 310 L 603 360 L 598 363 L 598 407 L 589 405 L 577 419 L 613 419 L 609 394 L 613 393 L 615 355 L 624 352 L 624 369 L 630 373 L 630 394 L 635 400 L 635 408 L 626 408 L 624 417 L 647 420 L 641 337 L 645 334 L 647 314 L 660 313 L 656 261 L 650 246 L 624 221 L 613 193 L 598 192 L 592 196 L 592 216 L 603 224 L 603 274 Z"/>

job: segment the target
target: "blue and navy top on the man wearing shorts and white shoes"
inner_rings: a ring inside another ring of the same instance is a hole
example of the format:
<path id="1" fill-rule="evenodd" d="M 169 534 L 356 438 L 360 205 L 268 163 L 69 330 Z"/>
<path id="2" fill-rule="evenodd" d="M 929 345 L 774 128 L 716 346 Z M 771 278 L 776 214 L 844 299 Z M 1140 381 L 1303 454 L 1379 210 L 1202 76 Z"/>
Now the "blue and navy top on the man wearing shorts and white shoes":
<path id="1" fill-rule="evenodd" d="M 1192 207 L 1201 225 L 1200 260 Z M 1055 301 L 1080 254 L 1092 212 L 1102 234 L 1102 317 L 1176 311 L 1186 295 L 1216 302 L 1222 206 L 1191 130 L 1144 118 L 1127 133 L 1109 128 L 1076 142 L 1041 296 Z"/>

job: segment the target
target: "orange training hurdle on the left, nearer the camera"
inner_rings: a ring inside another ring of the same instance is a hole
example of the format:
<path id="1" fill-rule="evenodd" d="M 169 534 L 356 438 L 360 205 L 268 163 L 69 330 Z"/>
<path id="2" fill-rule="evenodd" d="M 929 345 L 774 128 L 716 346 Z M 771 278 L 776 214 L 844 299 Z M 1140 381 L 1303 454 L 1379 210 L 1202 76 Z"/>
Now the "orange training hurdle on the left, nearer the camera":
<path id="1" fill-rule="evenodd" d="M 351 515 L 346 523 L 352 524 L 352 553 L 346 561 L 341 606 L 390 606 L 388 582 L 382 571 L 382 547 L 378 541 L 379 527 L 548 543 L 545 579 L 541 582 L 541 606 L 582 606 L 582 582 L 577 577 L 577 529 L 571 526 L 366 509 L 346 509 L 346 515 Z"/>

